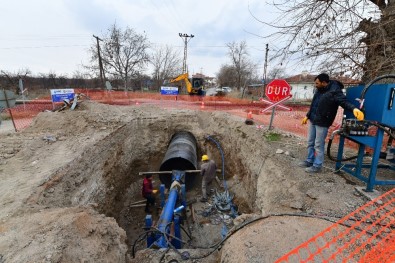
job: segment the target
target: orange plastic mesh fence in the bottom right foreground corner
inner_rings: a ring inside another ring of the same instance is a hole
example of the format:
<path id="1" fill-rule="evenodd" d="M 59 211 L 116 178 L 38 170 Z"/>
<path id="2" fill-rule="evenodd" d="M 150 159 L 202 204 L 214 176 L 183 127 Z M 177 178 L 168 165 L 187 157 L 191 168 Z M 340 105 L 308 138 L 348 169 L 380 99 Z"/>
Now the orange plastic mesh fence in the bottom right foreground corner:
<path id="1" fill-rule="evenodd" d="M 394 262 L 395 189 L 279 258 L 280 262 Z"/>

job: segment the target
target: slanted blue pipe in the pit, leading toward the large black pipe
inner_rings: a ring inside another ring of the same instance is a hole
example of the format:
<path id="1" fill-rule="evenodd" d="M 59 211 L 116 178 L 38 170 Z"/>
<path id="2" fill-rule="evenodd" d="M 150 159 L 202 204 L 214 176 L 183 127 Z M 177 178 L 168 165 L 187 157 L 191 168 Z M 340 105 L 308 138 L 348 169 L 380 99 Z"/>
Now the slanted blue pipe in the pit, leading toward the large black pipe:
<path id="1" fill-rule="evenodd" d="M 169 233 L 168 225 L 173 222 L 174 208 L 176 206 L 177 197 L 177 189 L 170 190 L 169 197 L 167 198 L 167 202 L 159 218 L 158 229 L 161 233 Z M 156 245 L 161 248 L 167 248 L 168 244 L 166 238 L 162 235 L 156 241 Z"/>

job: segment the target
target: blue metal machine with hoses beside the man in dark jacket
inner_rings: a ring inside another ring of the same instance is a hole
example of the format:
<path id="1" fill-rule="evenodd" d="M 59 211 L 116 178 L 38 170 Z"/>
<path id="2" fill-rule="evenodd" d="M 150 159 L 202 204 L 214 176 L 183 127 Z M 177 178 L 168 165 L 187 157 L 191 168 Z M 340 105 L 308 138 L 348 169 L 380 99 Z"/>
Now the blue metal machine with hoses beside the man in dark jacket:
<path id="1" fill-rule="evenodd" d="M 395 78 L 392 75 L 390 77 Z M 348 101 L 354 102 L 358 108 L 362 109 L 365 114 L 365 120 L 356 121 L 351 112 L 345 112 L 342 128 L 337 131 L 340 135 L 340 140 L 337 159 L 335 160 L 336 170 L 343 170 L 367 183 L 366 191 L 368 192 L 373 191 L 375 185 L 395 185 L 395 180 L 389 178 L 379 180 L 376 178 L 379 168 L 395 170 L 395 166 L 392 164 L 395 164 L 395 147 L 392 146 L 395 136 L 395 84 L 372 85 L 382 78 L 384 77 L 377 78 L 370 85 L 367 85 L 366 88 L 357 86 L 347 89 L 346 96 Z M 369 135 L 368 133 L 369 127 L 372 126 L 377 127 L 375 135 Z M 345 139 L 359 145 L 358 155 L 354 156 L 355 158 L 342 159 Z M 371 163 L 367 163 L 366 158 L 364 159 L 366 147 L 370 147 L 373 150 Z M 385 147 L 386 149 L 382 151 Z M 329 148 L 330 144 L 328 144 L 328 153 L 330 152 Z M 380 158 L 386 159 L 386 163 L 379 162 Z M 350 159 L 356 159 L 356 162 L 343 163 L 343 161 Z M 368 169 L 368 176 L 367 172 L 363 173 L 363 171 L 366 171 L 364 169 Z M 384 173 L 384 175 L 387 174 L 389 173 Z"/>

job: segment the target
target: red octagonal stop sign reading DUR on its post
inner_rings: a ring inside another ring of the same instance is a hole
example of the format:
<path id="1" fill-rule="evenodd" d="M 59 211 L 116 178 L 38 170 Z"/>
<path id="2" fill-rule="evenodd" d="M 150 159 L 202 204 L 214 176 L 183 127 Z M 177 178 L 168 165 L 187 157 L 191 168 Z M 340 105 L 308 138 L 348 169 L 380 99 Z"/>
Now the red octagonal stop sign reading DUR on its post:
<path id="1" fill-rule="evenodd" d="M 272 104 L 272 116 L 270 117 L 269 130 L 272 128 L 274 119 L 274 112 L 276 110 L 276 104 L 280 104 L 292 97 L 291 86 L 283 79 L 272 80 L 265 89 L 266 97 L 274 102 Z M 277 103 L 276 103 L 277 102 Z"/>

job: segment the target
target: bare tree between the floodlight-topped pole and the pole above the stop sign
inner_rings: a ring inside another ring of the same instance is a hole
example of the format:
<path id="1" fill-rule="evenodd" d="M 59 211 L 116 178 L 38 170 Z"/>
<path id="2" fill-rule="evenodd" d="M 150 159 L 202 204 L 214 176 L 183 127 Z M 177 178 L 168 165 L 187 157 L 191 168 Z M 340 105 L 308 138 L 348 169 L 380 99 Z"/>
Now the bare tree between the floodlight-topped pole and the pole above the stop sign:
<path id="1" fill-rule="evenodd" d="M 227 47 L 229 48 L 228 55 L 232 61 L 235 73 L 235 84 L 237 89 L 240 90 L 251 76 L 251 70 L 254 66 L 248 58 L 247 43 L 245 41 L 228 43 Z"/>

